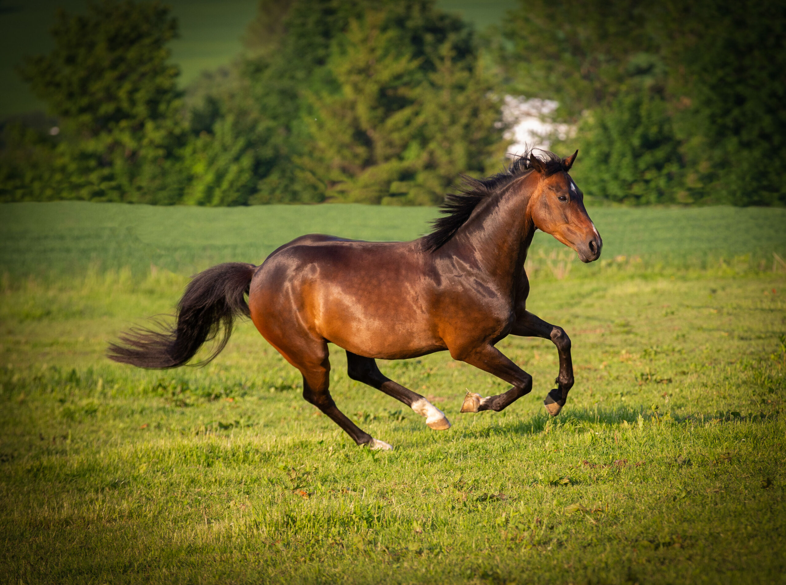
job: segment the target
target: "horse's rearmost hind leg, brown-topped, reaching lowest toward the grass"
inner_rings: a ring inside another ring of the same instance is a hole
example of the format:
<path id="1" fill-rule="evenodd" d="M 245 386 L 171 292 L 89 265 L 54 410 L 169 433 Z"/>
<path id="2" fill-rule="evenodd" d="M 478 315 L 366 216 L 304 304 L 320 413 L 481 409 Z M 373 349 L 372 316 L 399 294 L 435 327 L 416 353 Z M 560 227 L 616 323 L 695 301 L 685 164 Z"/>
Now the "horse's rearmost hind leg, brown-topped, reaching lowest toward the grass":
<path id="1" fill-rule="evenodd" d="M 345 433 L 347 433 L 355 443 L 362 445 L 368 444 L 372 449 L 392 449 L 391 445 L 384 441 L 375 439 L 369 433 L 358 428 L 347 415 L 336 407 L 336 403 L 330 396 L 330 361 L 328 359 L 328 344 L 324 341 L 314 342 L 308 344 L 307 351 L 299 347 L 296 356 L 292 353 L 281 351 L 282 354 L 289 360 L 292 365 L 297 367 L 301 374 L 303 374 L 303 398 L 310 404 L 314 404 L 325 415 L 340 426 Z"/>

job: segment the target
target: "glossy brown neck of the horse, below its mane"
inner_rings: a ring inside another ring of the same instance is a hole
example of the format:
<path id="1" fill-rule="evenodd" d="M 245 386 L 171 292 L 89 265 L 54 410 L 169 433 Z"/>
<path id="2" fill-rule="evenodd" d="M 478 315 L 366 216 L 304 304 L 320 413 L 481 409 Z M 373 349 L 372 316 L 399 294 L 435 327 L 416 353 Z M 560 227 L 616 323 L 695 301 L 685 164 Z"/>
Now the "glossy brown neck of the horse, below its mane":
<path id="1" fill-rule="evenodd" d="M 482 207 L 449 242 L 452 254 L 503 288 L 518 283 L 535 232 L 527 210 L 531 191 L 519 189 L 480 203 Z"/>

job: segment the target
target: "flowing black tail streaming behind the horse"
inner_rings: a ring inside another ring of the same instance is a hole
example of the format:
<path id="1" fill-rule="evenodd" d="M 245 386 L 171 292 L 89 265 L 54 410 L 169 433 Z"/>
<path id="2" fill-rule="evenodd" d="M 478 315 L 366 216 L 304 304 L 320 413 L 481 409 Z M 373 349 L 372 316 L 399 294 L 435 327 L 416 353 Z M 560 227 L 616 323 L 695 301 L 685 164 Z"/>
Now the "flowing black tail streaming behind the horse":
<path id="1" fill-rule="evenodd" d="M 190 360 L 204 342 L 223 334 L 207 364 L 221 353 L 232 335 L 235 316 L 249 316 L 244 294 L 254 276 L 253 264 L 227 262 L 200 272 L 185 287 L 178 303 L 173 325 L 155 321 L 163 331 L 132 327 L 120 335 L 119 343 L 110 343 L 110 360 L 139 367 L 178 367 Z"/>

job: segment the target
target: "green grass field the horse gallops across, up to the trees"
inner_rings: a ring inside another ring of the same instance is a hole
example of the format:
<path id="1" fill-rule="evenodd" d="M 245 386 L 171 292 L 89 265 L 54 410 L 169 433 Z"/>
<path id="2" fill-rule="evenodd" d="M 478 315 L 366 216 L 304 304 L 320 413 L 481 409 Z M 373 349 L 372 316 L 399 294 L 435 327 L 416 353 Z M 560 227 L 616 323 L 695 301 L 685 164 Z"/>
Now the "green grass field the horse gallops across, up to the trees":
<path id="1" fill-rule="evenodd" d="M 202 369 L 110 364 L 194 270 L 303 232 L 406 239 L 433 209 L 0 206 L 3 583 L 780 583 L 786 580 L 786 211 L 590 210 L 604 256 L 538 234 L 530 309 L 573 340 L 556 419 L 549 342 L 499 347 L 505 387 L 450 360 L 380 362 L 454 423 L 352 382 L 358 448 L 241 324 Z"/>

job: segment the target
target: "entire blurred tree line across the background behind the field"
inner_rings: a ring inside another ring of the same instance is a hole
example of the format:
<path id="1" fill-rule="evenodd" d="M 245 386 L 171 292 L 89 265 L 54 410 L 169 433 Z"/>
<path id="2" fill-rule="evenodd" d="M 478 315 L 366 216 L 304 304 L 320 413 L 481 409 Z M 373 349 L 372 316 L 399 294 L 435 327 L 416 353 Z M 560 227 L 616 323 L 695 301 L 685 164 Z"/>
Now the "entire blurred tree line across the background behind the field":
<path id="1" fill-rule="evenodd" d="M 244 53 L 185 91 L 158 2 L 52 33 L 20 73 L 53 119 L 3 124 L 3 201 L 432 205 L 499 170 L 513 93 L 559 102 L 553 149 L 593 196 L 786 203 L 783 2 L 526 0 L 479 37 L 432 0 L 260 0 Z"/>

